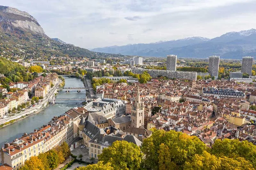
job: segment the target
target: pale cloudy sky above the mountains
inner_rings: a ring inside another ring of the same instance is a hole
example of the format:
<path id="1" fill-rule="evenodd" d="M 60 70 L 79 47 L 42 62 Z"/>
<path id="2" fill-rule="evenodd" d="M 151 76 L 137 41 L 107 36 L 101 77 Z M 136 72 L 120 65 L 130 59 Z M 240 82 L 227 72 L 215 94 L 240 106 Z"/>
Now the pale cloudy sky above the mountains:
<path id="1" fill-rule="evenodd" d="M 92 49 L 256 28 L 256 0 L 0 0 L 51 38 Z"/>

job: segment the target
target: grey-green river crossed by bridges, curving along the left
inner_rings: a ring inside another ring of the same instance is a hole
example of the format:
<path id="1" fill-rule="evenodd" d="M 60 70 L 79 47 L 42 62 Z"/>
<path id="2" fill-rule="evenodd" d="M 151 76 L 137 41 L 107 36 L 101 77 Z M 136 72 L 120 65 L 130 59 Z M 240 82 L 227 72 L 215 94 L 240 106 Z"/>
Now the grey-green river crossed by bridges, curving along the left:
<path id="1" fill-rule="evenodd" d="M 64 77 L 64 87 L 84 87 L 83 82 L 79 78 Z M 85 98 L 85 89 L 81 89 L 81 92 L 77 92 L 76 89 L 61 90 L 56 99 L 64 98 Z M 41 127 L 42 125 L 51 121 L 53 116 L 64 114 L 66 111 L 73 107 L 81 107 L 82 100 L 58 100 L 56 104 L 50 105 L 40 113 L 28 116 L 27 118 L 15 122 L 0 129 L 0 145 L 3 146 L 5 142 L 12 142 L 15 138 L 19 138 L 24 132 L 33 132 L 34 129 Z"/>

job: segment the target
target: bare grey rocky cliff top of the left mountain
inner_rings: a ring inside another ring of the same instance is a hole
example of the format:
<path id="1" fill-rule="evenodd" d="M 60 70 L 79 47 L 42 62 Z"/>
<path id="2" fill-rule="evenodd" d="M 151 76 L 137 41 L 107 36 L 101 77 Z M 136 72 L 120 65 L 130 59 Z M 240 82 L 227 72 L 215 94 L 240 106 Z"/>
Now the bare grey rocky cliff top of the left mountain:
<path id="1" fill-rule="evenodd" d="M 7 6 L 0 6 L 0 28 L 10 33 L 19 34 L 26 31 L 45 35 L 43 28 L 34 17 L 27 12 Z"/>

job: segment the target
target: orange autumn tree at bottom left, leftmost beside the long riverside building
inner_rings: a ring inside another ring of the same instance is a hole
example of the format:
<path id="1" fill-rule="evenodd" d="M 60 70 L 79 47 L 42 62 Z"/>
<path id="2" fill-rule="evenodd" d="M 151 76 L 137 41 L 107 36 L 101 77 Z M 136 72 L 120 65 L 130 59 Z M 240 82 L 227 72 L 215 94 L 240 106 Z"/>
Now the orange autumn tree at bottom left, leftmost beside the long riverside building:
<path id="1" fill-rule="evenodd" d="M 25 162 L 25 165 L 21 170 L 44 170 L 44 164 L 40 159 L 38 159 L 38 157 L 32 156 Z"/>

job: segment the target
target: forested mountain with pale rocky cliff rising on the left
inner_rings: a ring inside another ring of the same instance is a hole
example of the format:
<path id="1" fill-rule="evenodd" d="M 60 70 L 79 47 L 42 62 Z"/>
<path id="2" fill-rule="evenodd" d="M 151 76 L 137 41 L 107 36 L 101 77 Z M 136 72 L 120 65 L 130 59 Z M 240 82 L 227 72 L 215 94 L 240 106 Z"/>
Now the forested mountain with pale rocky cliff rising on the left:
<path id="1" fill-rule="evenodd" d="M 120 56 L 93 52 L 66 44 L 58 38 L 51 39 L 37 20 L 27 12 L 0 6 L 0 55 L 5 58 L 45 59 L 62 57 Z"/>

